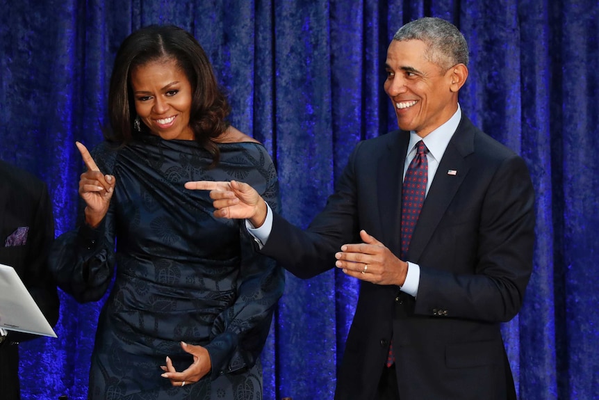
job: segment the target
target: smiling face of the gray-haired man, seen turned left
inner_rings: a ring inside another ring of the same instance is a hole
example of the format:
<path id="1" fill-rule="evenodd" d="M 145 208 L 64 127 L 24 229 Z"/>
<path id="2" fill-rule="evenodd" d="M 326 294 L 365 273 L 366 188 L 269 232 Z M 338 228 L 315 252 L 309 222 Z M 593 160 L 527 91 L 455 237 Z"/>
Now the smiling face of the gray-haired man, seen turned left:
<path id="1" fill-rule="evenodd" d="M 420 40 L 392 40 L 387 50 L 385 92 L 393 102 L 397 125 L 425 137 L 457 111 L 453 68 L 444 72 L 427 61 Z"/>

